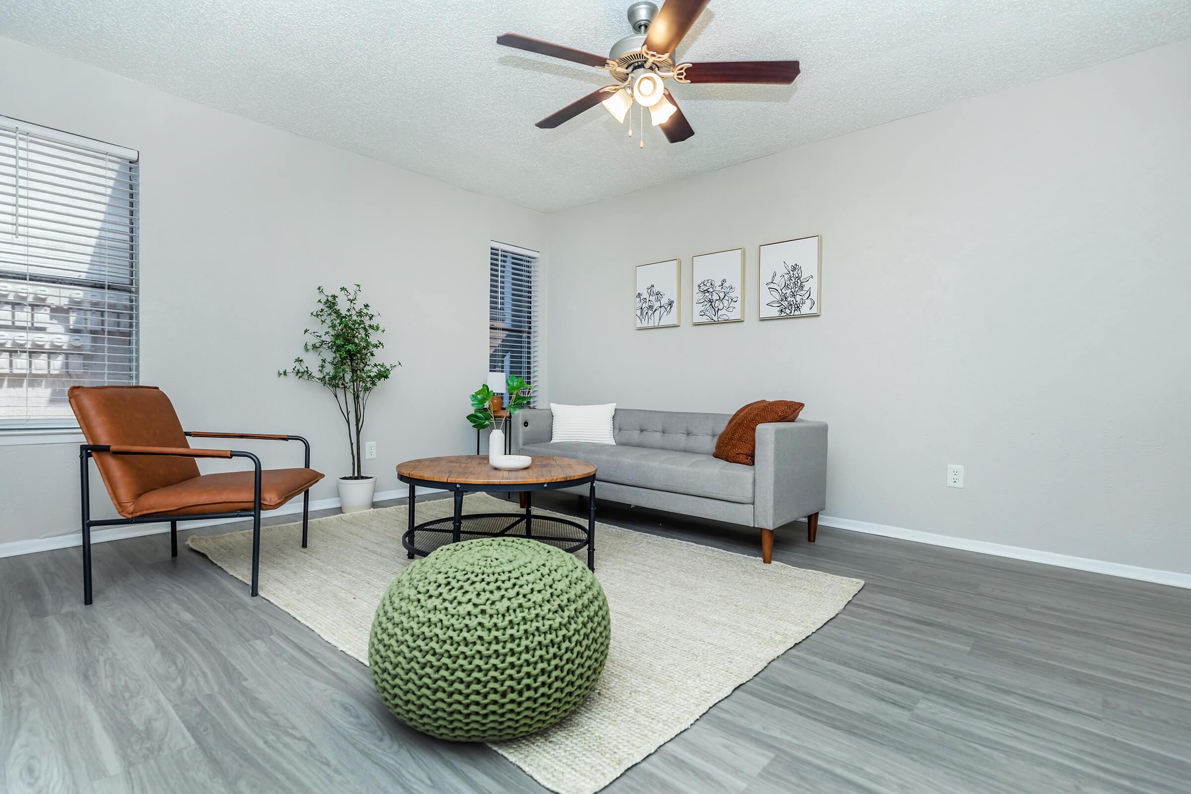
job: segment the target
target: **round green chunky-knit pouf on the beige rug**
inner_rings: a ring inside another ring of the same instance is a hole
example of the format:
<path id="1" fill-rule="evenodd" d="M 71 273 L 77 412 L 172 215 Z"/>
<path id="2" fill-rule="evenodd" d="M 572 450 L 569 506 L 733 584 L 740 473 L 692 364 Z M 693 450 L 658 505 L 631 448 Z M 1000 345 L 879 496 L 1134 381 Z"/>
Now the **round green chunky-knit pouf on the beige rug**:
<path id="1" fill-rule="evenodd" d="M 385 706 L 453 742 L 526 736 L 596 686 L 611 623 L 596 576 L 526 538 L 451 543 L 410 563 L 376 607 L 368 665 Z"/>

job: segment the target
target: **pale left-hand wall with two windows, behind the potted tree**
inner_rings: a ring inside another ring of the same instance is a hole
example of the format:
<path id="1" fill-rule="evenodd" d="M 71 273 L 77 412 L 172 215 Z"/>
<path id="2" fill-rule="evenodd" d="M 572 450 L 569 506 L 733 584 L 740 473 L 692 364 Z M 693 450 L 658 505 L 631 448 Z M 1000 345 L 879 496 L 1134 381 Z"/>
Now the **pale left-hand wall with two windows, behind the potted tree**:
<path id="1" fill-rule="evenodd" d="M 276 370 L 301 351 L 314 288 L 360 282 L 403 363 L 368 406 L 378 489 L 398 487 L 399 461 L 474 450 L 488 242 L 541 249 L 543 215 L 4 38 L 0 114 L 141 151 L 141 381 L 187 429 L 306 436 L 328 475 L 313 498 L 333 496 L 343 420 Z M 301 465 L 300 444 L 243 444 Z M 0 543 L 77 532 L 77 459 L 76 445 L 0 446 Z"/>

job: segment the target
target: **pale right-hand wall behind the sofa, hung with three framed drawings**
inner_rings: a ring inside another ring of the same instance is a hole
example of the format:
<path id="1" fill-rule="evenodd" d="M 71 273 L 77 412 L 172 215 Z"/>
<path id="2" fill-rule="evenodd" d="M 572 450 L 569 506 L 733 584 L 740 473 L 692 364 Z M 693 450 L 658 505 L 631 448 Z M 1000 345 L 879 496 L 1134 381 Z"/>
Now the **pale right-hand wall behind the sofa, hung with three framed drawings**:
<path id="1" fill-rule="evenodd" d="M 1189 142 L 1185 40 L 550 215 L 551 399 L 800 400 L 830 515 L 1191 573 Z M 759 321 L 757 244 L 809 235 L 822 317 Z M 692 326 L 734 246 L 746 321 Z M 684 325 L 634 330 L 673 257 Z"/>

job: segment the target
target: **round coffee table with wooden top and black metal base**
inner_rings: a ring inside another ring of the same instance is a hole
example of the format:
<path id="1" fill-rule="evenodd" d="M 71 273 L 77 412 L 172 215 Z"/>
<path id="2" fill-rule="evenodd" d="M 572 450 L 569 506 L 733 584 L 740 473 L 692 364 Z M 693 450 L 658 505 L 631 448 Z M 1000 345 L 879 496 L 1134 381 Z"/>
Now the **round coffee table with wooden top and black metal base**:
<path id="1" fill-rule="evenodd" d="M 423 457 L 397 467 L 397 477 L 410 486 L 410 527 L 401 536 L 410 559 L 424 557 L 447 543 L 462 539 L 525 537 L 559 546 L 563 551 L 587 549 L 587 567 L 596 570 L 596 467 L 569 457 L 535 457 L 529 468 L 505 471 L 488 464 L 480 455 Z M 534 492 L 557 490 L 591 483 L 587 496 L 587 526 L 566 518 L 534 515 Z M 416 524 L 414 496 L 418 486 L 450 490 L 455 511 L 449 518 Z M 463 515 L 463 494 L 520 493 L 523 513 L 475 513 Z M 510 520 L 512 519 L 512 520 Z"/>

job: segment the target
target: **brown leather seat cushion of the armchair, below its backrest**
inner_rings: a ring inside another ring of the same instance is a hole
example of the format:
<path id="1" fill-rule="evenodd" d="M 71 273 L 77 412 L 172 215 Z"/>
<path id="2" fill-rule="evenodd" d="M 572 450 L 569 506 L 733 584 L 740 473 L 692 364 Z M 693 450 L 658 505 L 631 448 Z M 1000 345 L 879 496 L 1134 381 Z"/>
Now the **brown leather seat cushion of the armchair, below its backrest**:
<path id="1" fill-rule="evenodd" d="M 204 474 L 142 494 L 127 518 L 193 515 L 252 509 L 252 471 Z M 261 509 L 275 509 L 306 490 L 323 475 L 313 469 L 267 469 L 261 473 Z"/>

